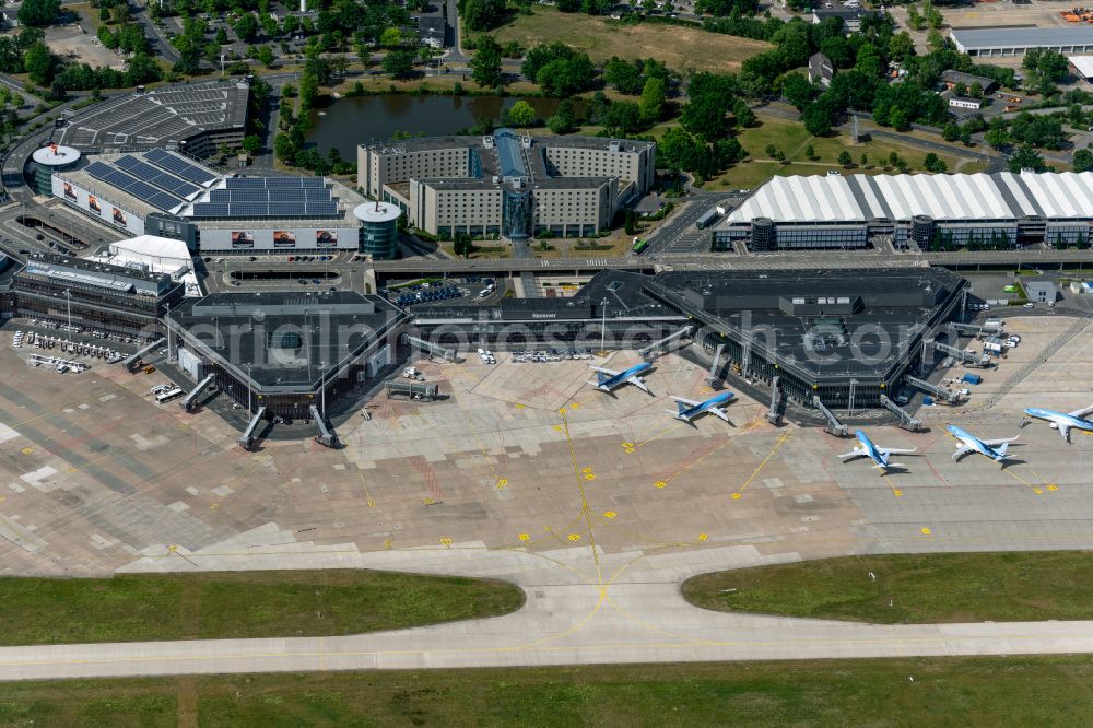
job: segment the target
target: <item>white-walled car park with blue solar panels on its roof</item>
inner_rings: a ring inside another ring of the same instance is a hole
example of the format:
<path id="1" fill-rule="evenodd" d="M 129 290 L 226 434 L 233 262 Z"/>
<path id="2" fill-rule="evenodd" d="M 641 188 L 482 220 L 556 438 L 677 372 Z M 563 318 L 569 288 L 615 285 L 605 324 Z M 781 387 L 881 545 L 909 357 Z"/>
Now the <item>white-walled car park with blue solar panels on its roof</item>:
<path id="1" fill-rule="evenodd" d="M 98 223 L 133 236 L 184 240 L 193 251 L 360 250 L 375 258 L 397 251 L 397 215 L 378 220 L 343 185 L 321 177 L 225 175 L 161 149 L 84 155 L 52 172 L 50 192 Z M 377 225 L 386 227 L 377 232 Z"/>

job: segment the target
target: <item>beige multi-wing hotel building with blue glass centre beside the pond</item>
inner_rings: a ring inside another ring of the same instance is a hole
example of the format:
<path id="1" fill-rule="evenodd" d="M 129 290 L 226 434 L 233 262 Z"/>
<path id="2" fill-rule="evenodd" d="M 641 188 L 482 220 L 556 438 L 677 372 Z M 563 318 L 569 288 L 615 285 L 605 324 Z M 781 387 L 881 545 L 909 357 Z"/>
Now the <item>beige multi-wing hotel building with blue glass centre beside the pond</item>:
<path id="1" fill-rule="evenodd" d="M 431 235 L 579 237 L 609 228 L 654 183 L 653 142 L 597 137 L 433 137 L 357 148 L 357 186 Z"/>

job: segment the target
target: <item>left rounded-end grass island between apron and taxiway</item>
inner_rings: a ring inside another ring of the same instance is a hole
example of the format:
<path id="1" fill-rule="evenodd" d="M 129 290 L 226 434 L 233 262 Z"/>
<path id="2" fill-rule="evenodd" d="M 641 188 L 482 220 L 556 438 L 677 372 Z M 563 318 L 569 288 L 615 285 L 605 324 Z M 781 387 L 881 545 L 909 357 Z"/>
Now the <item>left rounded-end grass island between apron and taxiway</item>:
<path id="1" fill-rule="evenodd" d="M 505 614 L 524 592 L 397 572 L 225 572 L 2 578 L 0 603 L 0 644 L 50 645 L 355 634 Z"/>

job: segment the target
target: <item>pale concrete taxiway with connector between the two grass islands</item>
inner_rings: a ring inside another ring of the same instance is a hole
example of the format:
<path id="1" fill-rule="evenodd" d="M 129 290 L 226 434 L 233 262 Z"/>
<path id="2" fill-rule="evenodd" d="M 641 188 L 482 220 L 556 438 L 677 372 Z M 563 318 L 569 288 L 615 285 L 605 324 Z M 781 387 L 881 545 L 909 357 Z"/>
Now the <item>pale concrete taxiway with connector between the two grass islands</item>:
<path id="1" fill-rule="evenodd" d="M 346 568 L 497 575 L 526 590 L 524 608 L 489 620 L 339 637 L 3 647 L 0 680 L 1093 653 L 1088 621 L 874 626 L 687 604 L 681 579 L 764 562 L 757 550 L 741 547 L 712 547 L 681 559 L 656 549 L 592 557 L 588 548 L 524 553 L 458 545 L 337 559 Z M 201 568 L 224 565 L 223 557 L 191 560 Z"/>

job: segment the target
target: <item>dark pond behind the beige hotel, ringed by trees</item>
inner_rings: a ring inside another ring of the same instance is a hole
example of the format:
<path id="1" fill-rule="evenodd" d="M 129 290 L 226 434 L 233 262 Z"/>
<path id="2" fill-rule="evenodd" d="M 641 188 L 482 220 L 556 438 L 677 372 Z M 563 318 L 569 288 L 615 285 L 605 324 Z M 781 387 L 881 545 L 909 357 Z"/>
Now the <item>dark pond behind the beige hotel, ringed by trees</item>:
<path id="1" fill-rule="evenodd" d="M 330 106 L 312 111 L 314 126 L 305 142 L 324 152 L 337 146 L 342 158 L 356 160 L 356 145 L 392 138 L 396 132 L 418 137 L 439 137 L 468 129 L 484 119 L 498 121 L 516 96 L 443 96 L 386 94 L 339 98 Z M 539 118 L 551 116 L 557 98 L 526 99 Z M 583 113 L 584 104 L 576 104 Z"/>

